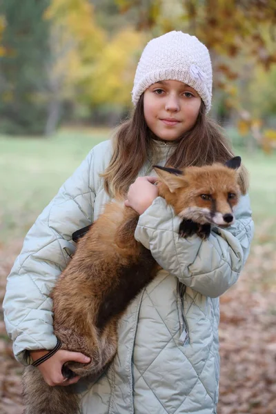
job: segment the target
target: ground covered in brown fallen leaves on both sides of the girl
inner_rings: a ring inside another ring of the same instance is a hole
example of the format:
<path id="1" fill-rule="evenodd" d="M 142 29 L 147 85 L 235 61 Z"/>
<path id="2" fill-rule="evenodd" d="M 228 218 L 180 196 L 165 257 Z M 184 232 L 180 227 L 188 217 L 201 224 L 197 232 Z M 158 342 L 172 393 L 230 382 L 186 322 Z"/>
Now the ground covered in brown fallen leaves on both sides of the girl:
<path id="1" fill-rule="evenodd" d="M 262 236 L 262 235 L 261 235 Z M 260 239 L 260 235 L 259 235 Z M 0 246 L 0 301 L 21 240 Z M 254 244 L 239 282 L 221 297 L 218 414 L 276 414 L 275 244 Z M 21 414 L 21 366 L 0 315 L 0 414 Z"/>

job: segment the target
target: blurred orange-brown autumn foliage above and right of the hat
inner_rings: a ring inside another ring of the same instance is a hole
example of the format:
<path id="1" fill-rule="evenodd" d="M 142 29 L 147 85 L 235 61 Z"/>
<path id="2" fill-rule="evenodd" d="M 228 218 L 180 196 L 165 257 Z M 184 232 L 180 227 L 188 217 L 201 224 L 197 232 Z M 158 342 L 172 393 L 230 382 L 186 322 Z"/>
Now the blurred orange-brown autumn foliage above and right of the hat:
<path id="1" fill-rule="evenodd" d="M 246 49 L 265 68 L 276 63 L 275 0 L 116 0 L 122 13 L 135 10 L 138 29 L 159 34 L 187 30 L 211 53 L 236 57 Z M 269 41 L 272 39 L 273 42 Z M 217 69 L 235 79 L 226 66 Z"/>

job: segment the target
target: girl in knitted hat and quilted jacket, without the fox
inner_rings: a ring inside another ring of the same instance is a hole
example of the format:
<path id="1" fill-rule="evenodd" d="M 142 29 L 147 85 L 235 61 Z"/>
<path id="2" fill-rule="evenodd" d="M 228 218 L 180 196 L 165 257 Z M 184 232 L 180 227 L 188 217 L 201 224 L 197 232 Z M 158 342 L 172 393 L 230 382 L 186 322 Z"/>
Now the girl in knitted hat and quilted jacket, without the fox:
<path id="1" fill-rule="evenodd" d="M 59 350 L 37 367 L 52 386 L 77 382 L 83 414 L 216 413 L 219 295 L 237 281 L 249 253 L 248 196 L 230 228 L 214 226 L 204 242 L 196 235 L 181 239 L 179 218 L 157 197 L 152 177 L 157 162 L 201 166 L 233 156 L 206 117 L 211 96 L 210 56 L 196 37 L 169 32 L 152 39 L 137 67 L 132 117 L 63 184 L 30 229 L 8 277 L 7 330 L 15 357 L 31 364 L 57 344 L 49 293 L 74 253 L 72 233 L 97 219 L 114 197 L 139 213 L 135 238 L 163 270 L 121 318 L 112 364 L 93 383 L 61 375 L 64 362 L 87 362 L 80 353 Z"/>

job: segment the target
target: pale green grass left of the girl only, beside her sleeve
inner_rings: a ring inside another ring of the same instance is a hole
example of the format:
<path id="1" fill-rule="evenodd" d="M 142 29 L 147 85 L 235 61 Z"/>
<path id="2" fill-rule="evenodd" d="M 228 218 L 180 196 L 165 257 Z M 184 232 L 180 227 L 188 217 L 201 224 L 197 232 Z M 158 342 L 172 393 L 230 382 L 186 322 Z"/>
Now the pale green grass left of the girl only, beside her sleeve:
<path id="1" fill-rule="evenodd" d="M 37 215 L 106 130 L 63 130 L 51 138 L 0 137 L 0 242 L 26 234 Z"/>

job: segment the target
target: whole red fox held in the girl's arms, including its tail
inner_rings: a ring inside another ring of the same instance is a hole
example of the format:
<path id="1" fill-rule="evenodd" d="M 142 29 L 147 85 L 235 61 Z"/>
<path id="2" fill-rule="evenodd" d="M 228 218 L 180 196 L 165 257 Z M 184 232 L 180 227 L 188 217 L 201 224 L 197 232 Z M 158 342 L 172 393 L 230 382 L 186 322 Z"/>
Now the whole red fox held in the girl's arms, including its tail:
<path id="1" fill-rule="evenodd" d="M 179 236 L 210 235 L 212 225 L 230 226 L 241 193 L 240 157 L 226 164 L 187 167 L 155 166 L 159 195 L 182 221 Z M 70 264 L 52 290 L 55 335 L 61 348 L 91 358 L 90 363 L 68 362 L 64 377 L 97 377 L 117 351 L 117 322 L 130 301 L 157 274 L 160 266 L 150 250 L 134 237 L 139 215 L 124 203 L 111 201 L 82 237 Z M 39 370 L 23 373 L 25 414 L 76 414 L 74 385 L 48 386 Z"/>

